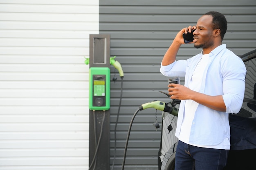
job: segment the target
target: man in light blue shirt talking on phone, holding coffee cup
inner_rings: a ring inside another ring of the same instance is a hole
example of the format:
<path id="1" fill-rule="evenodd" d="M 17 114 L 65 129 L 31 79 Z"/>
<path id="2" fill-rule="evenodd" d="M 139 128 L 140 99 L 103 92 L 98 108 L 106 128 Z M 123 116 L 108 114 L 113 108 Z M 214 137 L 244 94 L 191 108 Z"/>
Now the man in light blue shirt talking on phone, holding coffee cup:
<path id="1" fill-rule="evenodd" d="M 195 48 L 202 52 L 176 61 L 184 40 L 194 35 Z M 177 33 L 163 57 L 160 72 L 168 77 L 185 77 L 184 86 L 169 84 L 171 99 L 180 99 L 175 135 L 179 142 L 175 170 L 222 170 L 230 149 L 229 113 L 238 113 L 244 97 L 246 68 L 243 61 L 222 44 L 227 20 L 208 12 L 196 26 Z"/>

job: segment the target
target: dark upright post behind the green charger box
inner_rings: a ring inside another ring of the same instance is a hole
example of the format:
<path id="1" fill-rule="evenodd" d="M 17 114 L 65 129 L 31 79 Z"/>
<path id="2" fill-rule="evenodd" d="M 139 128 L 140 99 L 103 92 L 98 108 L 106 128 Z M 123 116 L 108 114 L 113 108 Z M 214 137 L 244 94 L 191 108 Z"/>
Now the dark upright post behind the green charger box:
<path id="1" fill-rule="evenodd" d="M 90 67 L 110 68 L 110 35 L 90 35 L 89 60 Z M 110 110 L 89 110 L 89 119 L 89 168 L 109 170 Z"/>

